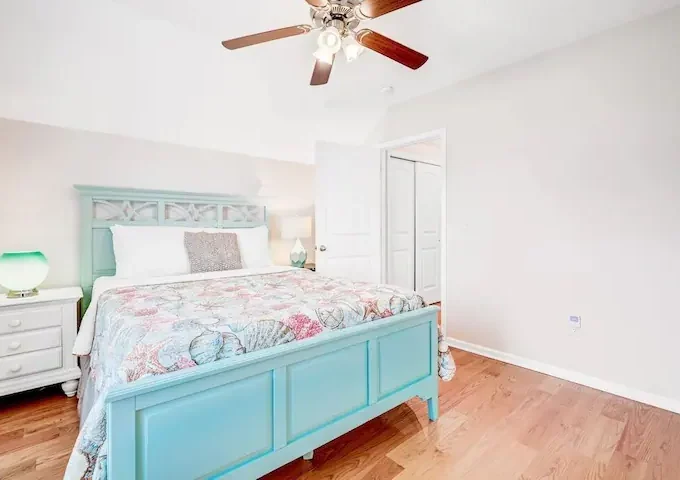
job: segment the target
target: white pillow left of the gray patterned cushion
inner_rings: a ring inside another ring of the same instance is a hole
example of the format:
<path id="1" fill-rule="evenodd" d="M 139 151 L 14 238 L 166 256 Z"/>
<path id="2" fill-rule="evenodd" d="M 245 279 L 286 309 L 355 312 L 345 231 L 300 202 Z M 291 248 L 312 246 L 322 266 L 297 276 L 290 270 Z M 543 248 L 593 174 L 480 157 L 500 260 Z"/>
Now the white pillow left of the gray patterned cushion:
<path id="1" fill-rule="evenodd" d="M 114 225 L 116 276 L 164 277 L 189 273 L 184 228 Z"/>

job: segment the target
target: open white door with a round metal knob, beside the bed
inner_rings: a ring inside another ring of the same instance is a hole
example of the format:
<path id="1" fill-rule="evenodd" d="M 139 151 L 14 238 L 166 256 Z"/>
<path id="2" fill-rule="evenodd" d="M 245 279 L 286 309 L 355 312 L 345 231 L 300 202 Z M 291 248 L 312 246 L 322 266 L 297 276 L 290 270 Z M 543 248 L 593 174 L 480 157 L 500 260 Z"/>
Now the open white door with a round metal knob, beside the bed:
<path id="1" fill-rule="evenodd" d="M 316 146 L 316 267 L 323 275 L 380 282 L 380 150 Z"/>

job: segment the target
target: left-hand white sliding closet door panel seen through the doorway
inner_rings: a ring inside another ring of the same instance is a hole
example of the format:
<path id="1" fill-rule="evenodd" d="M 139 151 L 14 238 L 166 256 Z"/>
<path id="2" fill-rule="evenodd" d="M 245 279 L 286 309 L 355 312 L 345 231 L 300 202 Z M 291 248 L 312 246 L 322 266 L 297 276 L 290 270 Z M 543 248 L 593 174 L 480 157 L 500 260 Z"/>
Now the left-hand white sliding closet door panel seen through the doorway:
<path id="1" fill-rule="evenodd" d="M 415 290 L 415 162 L 387 160 L 387 283 Z"/>

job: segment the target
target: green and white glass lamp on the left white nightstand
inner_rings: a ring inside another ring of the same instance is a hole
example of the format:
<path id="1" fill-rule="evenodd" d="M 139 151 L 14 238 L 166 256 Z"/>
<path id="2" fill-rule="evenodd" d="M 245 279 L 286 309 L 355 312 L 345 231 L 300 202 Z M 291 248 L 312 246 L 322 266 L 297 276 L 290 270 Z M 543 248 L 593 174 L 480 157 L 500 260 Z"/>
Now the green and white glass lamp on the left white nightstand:
<path id="1" fill-rule="evenodd" d="M 6 252 L 0 255 L 0 286 L 9 290 L 9 298 L 32 297 L 49 270 L 42 252 Z"/>

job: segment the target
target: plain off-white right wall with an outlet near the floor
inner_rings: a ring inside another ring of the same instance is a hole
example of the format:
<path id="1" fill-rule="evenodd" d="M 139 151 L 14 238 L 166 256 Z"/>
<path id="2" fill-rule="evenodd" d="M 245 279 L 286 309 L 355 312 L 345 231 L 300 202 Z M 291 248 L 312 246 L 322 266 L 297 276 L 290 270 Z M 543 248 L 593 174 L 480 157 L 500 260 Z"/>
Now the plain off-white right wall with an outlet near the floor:
<path id="1" fill-rule="evenodd" d="M 390 110 L 384 140 L 447 128 L 449 336 L 680 400 L 678 32 L 674 9 Z"/>

